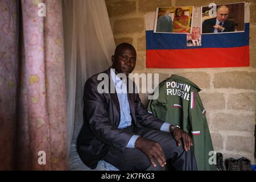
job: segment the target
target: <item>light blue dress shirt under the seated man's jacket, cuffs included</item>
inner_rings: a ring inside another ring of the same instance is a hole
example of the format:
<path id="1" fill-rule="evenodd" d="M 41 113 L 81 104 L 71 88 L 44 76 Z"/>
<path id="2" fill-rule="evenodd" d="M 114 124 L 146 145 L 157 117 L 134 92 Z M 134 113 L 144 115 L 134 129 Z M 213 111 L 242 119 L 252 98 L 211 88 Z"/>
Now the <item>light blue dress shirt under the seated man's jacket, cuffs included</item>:
<path id="1" fill-rule="evenodd" d="M 123 129 L 125 127 L 131 126 L 131 110 L 130 105 L 127 97 L 127 86 L 124 81 L 122 81 L 117 75 L 115 75 L 114 69 L 110 69 L 110 75 L 115 85 L 115 90 L 117 92 L 117 97 L 120 106 L 120 123 L 118 129 Z M 169 132 L 170 123 L 163 123 L 160 130 Z M 135 142 L 137 138 L 140 137 L 139 135 L 133 135 L 129 140 L 126 147 L 134 148 Z"/>

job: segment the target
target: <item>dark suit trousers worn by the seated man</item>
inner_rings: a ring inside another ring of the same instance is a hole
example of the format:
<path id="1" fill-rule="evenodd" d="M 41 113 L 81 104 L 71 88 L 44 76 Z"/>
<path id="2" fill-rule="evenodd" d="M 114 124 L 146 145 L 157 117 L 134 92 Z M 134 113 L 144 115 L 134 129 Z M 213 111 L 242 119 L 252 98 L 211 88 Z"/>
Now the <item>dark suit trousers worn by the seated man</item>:
<path id="1" fill-rule="evenodd" d="M 166 160 L 171 160 L 171 165 L 177 171 L 196 171 L 196 159 L 193 155 L 192 150 L 185 151 L 182 141 L 181 145 L 177 146 L 177 142 L 172 137 L 172 134 L 153 130 L 148 128 L 141 128 L 135 126 L 129 126 L 122 129 L 127 132 L 133 132 L 133 134 L 140 135 L 143 138 L 154 140 L 160 144 L 163 148 Z M 117 167 L 121 171 L 143 171 L 143 170 L 155 170 L 160 171 L 164 168 L 160 167 L 158 162 L 155 160 L 156 167 L 153 167 L 148 159 L 147 155 L 144 154 L 138 148 L 126 148 L 125 151 L 121 152 L 113 147 L 109 148 L 108 154 L 104 160 L 113 166 Z"/>

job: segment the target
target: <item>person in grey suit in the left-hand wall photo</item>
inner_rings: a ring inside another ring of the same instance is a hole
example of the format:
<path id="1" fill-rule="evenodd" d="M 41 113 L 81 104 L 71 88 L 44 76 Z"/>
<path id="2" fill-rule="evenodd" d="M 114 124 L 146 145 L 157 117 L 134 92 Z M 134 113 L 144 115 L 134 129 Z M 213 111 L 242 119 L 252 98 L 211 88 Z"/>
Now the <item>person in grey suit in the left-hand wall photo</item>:
<path id="1" fill-rule="evenodd" d="M 172 32 L 170 10 L 166 10 L 166 13 L 158 18 L 156 32 Z"/>

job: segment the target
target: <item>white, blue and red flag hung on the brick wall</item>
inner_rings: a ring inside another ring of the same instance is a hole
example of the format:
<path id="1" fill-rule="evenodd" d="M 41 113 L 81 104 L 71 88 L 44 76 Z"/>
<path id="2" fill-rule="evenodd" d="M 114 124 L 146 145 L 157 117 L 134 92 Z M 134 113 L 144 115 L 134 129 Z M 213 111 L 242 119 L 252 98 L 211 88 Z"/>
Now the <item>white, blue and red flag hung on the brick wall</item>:
<path id="1" fill-rule="evenodd" d="M 249 6 L 245 6 L 245 31 L 203 34 L 201 46 L 187 47 L 186 34 L 154 33 L 155 13 L 146 19 L 146 68 L 247 67 L 249 59 Z"/>

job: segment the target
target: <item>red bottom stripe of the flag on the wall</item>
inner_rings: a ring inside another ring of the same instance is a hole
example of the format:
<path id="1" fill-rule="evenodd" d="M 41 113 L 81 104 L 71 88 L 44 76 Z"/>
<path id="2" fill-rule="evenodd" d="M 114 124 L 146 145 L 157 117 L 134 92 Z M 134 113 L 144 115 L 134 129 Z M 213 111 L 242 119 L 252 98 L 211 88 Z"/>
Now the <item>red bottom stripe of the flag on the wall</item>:
<path id="1" fill-rule="evenodd" d="M 146 68 L 247 67 L 250 64 L 248 52 L 249 46 L 232 48 L 147 49 Z"/>

